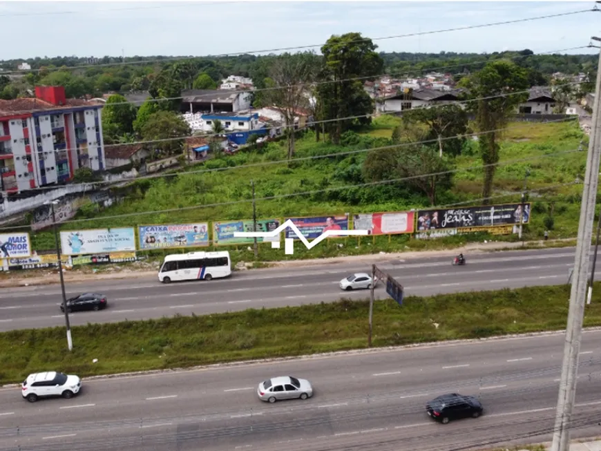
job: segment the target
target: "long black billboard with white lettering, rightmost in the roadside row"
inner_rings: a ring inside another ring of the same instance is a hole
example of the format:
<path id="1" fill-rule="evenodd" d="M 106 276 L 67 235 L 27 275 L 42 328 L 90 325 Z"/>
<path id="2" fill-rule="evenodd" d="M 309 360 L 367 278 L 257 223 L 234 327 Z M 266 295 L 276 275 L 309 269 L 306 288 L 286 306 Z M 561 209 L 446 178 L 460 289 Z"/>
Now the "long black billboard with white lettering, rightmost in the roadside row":
<path id="1" fill-rule="evenodd" d="M 523 222 L 530 220 L 531 204 L 524 204 Z M 519 224 L 522 204 L 486 205 L 451 209 L 420 210 L 417 230 L 492 228 Z M 471 230 L 477 231 L 477 230 Z"/>

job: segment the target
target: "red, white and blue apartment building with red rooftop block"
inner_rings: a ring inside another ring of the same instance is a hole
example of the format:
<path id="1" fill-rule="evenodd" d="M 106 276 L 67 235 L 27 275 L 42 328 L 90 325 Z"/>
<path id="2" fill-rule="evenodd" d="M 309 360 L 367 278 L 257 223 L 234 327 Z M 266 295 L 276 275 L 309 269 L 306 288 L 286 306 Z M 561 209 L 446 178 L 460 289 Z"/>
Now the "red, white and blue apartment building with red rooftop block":
<path id="1" fill-rule="evenodd" d="M 62 86 L 0 100 L 0 191 L 64 184 L 82 167 L 105 169 L 101 110 L 102 104 L 66 99 Z"/>

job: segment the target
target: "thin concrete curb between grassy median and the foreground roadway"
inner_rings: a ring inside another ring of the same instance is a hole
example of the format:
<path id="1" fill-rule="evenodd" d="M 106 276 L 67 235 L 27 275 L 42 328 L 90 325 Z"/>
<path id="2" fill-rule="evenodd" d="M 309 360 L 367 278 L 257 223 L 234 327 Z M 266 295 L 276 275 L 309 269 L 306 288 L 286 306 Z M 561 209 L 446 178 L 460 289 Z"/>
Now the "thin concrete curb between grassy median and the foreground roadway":
<path id="1" fill-rule="evenodd" d="M 600 332 L 601 327 L 586 327 L 583 330 L 584 333 L 589 332 Z M 434 341 L 428 343 L 414 343 L 412 345 L 401 345 L 401 346 L 386 346 L 386 347 L 374 347 L 371 349 L 349 349 L 347 351 L 336 351 L 336 352 L 322 352 L 319 354 L 307 354 L 304 356 L 289 356 L 289 357 L 274 357 L 274 358 L 260 358 L 257 360 L 249 361 L 238 361 L 238 362 L 227 362 L 227 363 L 213 363 L 211 365 L 198 365 L 195 367 L 188 368 L 170 368 L 166 370 L 147 370 L 147 371 L 136 371 L 126 372 L 117 374 L 102 374 L 99 376 L 88 376 L 82 378 L 83 381 L 101 381 L 103 379 L 112 379 L 120 377 L 131 377 L 131 376 L 149 376 L 153 374 L 171 374 L 178 372 L 193 372 L 193 371 L 208 371 L 208 370 L 220 370 L 224 368 L 249 366 L 249 365 L 264 365 L 265 363 L 283 363 L 289 361 L 309 361 L 316 360 L 318 358 L 332 358 L 338 356 L 353 356 L 362 354 L 376 354 L 381 352 L 395 352 L 403 349 L 415 349 L 420 347 L 445 347 L 445 346 L 456 346 L 456 345 L 469 345 L 472 343 L 483 343 L 489 341 L 504 341 L 504 340 L 519 340 L 524 338 L 535 338 L 544 336 L 555 336 L 565 334 L 565 329 L 557 331 L 547 332 L 528 332 L 526 334 L 511 334 L 493 336 L 487 338 L 470 338 L 468 340 L 448 340 L 448 341 Z M 2 385 L 2 388 L 19 387 L 20 384 L 6 384 Z"/>

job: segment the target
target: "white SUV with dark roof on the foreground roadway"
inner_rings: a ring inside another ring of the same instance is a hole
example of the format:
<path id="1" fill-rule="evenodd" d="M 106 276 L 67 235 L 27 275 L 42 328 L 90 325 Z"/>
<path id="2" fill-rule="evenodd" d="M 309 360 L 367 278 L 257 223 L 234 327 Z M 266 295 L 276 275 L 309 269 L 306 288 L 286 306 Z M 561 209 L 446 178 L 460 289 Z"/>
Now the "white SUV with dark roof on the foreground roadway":
<path id="1" fill-rule="evenodd" d="M 50 396 L 62 396 L 68 399 L 79 393 L 81 387 L 82 379 L 78 376 L 48 371 L 27 376 L 21 386 L 21 395 L 30 403 Z"/>

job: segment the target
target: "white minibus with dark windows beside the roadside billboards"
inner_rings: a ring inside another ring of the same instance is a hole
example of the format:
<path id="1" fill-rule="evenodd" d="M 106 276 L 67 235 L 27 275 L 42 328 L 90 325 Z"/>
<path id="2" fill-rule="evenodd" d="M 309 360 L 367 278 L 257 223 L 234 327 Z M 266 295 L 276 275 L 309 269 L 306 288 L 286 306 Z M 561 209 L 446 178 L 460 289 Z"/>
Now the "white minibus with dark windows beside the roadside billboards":
<path id="1" fill-rule="evenodd" d="M 178 280 L 211 280 L 231 275 L 228 251 L 173 253 L 165 256 L 159 270 L 163 283 Z"/>

